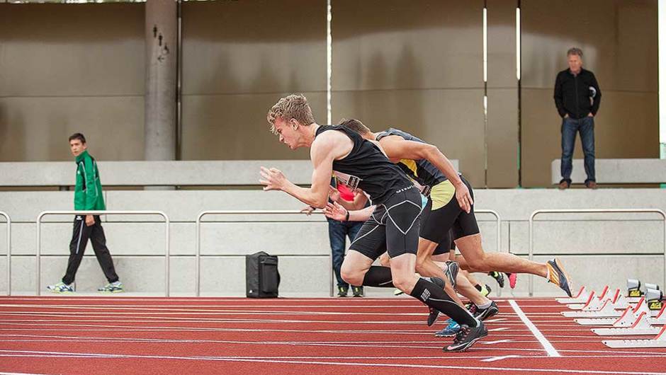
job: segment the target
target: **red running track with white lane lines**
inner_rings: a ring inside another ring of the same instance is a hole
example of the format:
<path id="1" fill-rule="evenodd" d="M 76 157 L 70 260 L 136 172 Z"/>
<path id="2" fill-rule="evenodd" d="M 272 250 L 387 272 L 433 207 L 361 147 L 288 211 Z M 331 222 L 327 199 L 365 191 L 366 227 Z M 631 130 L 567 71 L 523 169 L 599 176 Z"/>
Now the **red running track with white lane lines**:
<path id="1" fill-rule="evenodd" d="M 666 348 L 610 349 L 554 299 L 512 301 L 444 353 L 410 298 L 0 297 L 0 373 L 666 374 Z"/>

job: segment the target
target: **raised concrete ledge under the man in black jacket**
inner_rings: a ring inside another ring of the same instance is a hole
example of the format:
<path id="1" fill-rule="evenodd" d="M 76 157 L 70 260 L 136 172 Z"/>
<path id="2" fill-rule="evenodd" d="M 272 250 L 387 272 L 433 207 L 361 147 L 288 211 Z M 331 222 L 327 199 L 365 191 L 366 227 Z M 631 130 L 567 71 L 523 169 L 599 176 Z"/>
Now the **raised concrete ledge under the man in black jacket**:
<path id="1" fill-rule="evenodd" d="M 572 183 L 585 183 L 585 165 L 582 159 L 574 159 Z M 594 162 L 597 183 L 666 183 L 665 159 L 597 159 Z M 560 159 L 551 163 L 551 182 L 560 183 Z"/>

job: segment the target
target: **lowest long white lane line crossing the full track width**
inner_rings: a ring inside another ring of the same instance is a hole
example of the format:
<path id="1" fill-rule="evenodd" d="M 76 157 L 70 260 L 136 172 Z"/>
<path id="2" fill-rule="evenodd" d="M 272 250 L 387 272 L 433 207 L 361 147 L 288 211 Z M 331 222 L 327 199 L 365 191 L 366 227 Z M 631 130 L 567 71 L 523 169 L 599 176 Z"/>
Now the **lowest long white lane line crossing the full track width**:
<path id="1" fill-rule="evenodd" d="M 538 369 L 538 368 L 512 368 L 512 367 L 482 367 L 482 366 L 451 366 L 451 365 L 430 365 L 430 364 L 395 364 L 395 363 L 356 363 L 356 362 L 324 362 L 324 361 L 295 361 L 295 360 L 276 360 L 264 358 L 237 358 L 237 357 L 183 357 L 183 356 L 162 356 L 162 355 L 130 355 L 130 354 L 102 354 L 102 353 L 67 353 L 67 352 L 34 352 L 28 350 L 16 351 L 16 353 L 25 354 L 45 354 L 45 357 L 67 357 L 67 356 L 86 356 L 90 358 L 123 358 L 123 359 L 184 359 L 193 361 L 221 361 L 221 362 L 256 362 L 256 363 L 276 363 L 276 364 L 321 364 L 327 366 L 346 366 L 346 367 L 397 367 L 410 369 L 458 369 L 458 370 L 494 370 L 494 371 L 521 371 L 521 372 L 546 372 L 546 373 L 571 373 L 571 374 L 622 374 L 622 375 L 666 375 L 666 372 L 633 372 L 633 371 L 597 371 L 581 369 Z"/>

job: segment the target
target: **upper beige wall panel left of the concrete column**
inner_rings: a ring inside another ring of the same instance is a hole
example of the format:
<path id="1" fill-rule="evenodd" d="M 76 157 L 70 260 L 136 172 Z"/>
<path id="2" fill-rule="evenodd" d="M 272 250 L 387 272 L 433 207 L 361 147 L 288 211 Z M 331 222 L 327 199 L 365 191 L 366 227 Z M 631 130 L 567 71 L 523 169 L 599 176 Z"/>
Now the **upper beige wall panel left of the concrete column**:
<path id="1" fill-rule="evenodd" d="M 1 4 L 0 96 L 143 95 L 143 4 Z"/>

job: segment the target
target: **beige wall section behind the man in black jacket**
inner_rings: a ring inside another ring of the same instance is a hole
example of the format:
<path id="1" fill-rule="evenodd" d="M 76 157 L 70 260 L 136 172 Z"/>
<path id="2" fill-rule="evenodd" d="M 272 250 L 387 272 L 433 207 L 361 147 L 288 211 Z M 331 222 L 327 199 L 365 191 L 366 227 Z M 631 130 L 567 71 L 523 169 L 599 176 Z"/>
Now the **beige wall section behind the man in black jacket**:
<path id="1" fill-rule="evenodd" d="M 597 158 L 659 157 L 657 1 L 523 0 L 521 30 L 524 186 L 551 185 L 549 166 L 561 155 L 553 86 L 573 46 L 582 48 L 584 67 L 602 88 L 594 132 Z M 580 137 L 576 143 L 574 157 L 582 158 Z"/>

